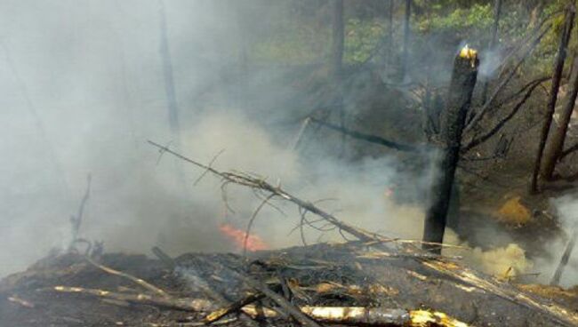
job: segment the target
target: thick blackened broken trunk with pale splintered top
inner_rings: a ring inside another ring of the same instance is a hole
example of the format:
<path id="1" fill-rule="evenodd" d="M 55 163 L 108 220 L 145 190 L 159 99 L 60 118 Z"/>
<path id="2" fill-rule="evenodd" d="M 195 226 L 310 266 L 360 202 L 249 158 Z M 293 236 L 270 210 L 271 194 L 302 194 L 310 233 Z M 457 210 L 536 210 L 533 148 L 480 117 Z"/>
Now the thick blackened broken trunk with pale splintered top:
<path id="1" fill-rule="evenodd" d="M 471 104 L 471 96 L 478 76 L 478 56 L 462 51 L 454 61 L 452 82 L 446 100 L 446 112 L 441 122 L 442 153 L 438 159 L 438 173 L 429 188 L 429 208 L 423 229 L 423 247 L 440 253 L 441 248 L 428 243 L 442 243 L 446 217 L 452 195 L 455 169 L 460 158 L 462 131 Z"/>

